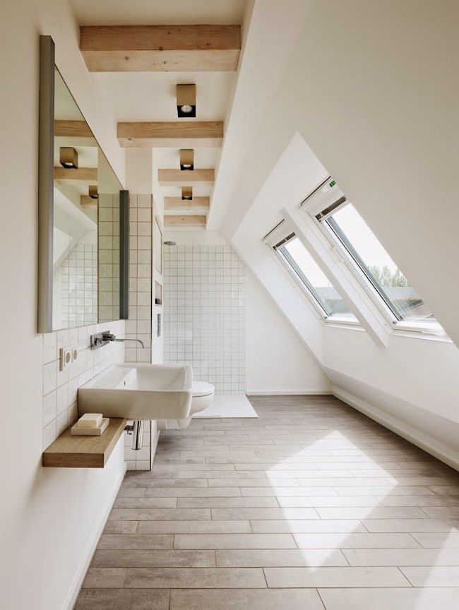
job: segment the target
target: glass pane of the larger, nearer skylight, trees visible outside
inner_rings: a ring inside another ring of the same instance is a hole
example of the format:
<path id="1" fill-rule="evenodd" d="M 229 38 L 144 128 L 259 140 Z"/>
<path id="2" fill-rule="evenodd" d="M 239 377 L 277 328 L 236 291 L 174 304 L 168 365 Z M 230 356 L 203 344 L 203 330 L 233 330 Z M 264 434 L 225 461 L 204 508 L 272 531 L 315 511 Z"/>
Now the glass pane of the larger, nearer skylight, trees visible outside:
<path id="1" fill-rule="evenodd" d="M 338 234 L 398 319 L 434 320 L 424 301 L 410 286 L 352 203 L 338 208 L 326 222 Z"/>

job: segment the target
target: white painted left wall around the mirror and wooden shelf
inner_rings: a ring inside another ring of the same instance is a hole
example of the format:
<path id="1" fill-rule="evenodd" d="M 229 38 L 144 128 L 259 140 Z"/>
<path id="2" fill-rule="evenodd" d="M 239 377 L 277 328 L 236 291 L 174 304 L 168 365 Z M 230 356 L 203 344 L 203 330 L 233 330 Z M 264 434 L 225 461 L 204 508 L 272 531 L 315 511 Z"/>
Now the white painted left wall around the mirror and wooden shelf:
<path id="1" fill-rule="evenodd" d="M 78 27 L 60 0 L 18 0 L 1 18 L 0 564 L 1 605 L 57 610 L 102 527 L 124 472 L 122 441 L 102 471 L 42 469 L 42 335 L 37 335 L 37 150 L 40 34 L 121 178 L 124 152 L 97 78 L 78 51 Z M 24 580 L 26 578 L 26 581 Z"/>

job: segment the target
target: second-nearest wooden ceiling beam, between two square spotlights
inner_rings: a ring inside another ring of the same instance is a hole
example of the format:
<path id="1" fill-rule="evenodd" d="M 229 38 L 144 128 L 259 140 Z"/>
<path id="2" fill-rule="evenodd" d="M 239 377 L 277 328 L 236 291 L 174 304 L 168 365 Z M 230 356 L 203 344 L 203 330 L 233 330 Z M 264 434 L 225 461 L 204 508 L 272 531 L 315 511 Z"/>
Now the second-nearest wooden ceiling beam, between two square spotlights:
<path id="1" fill-rule="evenodd" d="M 160 121 L 119 123 L 121 146 L 153 148 L 218 148 L 222 145 L 220 121 Z"/>

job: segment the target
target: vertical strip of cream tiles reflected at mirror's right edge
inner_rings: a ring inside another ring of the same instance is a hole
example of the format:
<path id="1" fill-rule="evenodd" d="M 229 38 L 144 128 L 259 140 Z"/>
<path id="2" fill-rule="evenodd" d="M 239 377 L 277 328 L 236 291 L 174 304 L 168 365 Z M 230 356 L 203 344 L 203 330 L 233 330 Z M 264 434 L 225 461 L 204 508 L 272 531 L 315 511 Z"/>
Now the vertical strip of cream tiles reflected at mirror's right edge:
<path id="1" fill-rule="evenodd" d="M 99 220 L 99 321 L 119 318 L 119 195 L 102 194 Z"/>

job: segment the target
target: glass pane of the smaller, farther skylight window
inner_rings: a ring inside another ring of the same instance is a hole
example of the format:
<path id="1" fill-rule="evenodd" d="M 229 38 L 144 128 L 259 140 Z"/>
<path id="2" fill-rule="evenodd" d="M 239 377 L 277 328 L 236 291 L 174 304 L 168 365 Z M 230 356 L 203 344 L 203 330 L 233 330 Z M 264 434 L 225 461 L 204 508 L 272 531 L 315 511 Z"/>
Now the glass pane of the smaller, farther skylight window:
<path id="1" fill-rule="evenodd" d="M 292 265 L 293 270 L 299 275 L 300 279 L 306 280 L 304 282 L 306 287 L 309 288 L 328 316 L 339 314 L 340 316 L 354 318 L 354 315 L 345 304 L 345 301 L 342 300 L 338 291 L 330 284 L 326 275 L 323 274 L 314 258 L 312 258 L 297 237 L 294 237 L 285 246 L 282 246 L 280 251 L 284 254 L 287 262 Z M 297 268 L 295 268 L 295 265 Z"/>

